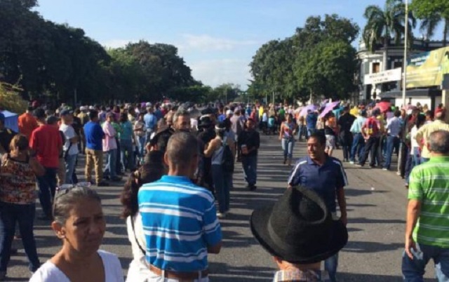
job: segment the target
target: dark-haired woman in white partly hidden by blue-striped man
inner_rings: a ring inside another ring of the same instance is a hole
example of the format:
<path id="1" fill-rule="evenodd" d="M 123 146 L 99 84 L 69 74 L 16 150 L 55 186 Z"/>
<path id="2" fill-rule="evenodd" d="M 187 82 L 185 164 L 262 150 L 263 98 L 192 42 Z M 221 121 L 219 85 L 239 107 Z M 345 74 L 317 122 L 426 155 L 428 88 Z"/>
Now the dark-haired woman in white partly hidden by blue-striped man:
<path id="1" fill-rule="evenodd" d="M 138 192 L 143 184 L 159 180 L 166 173 L 166 169 L 163 166 L 162 152 L 151 151 L 146 159 L 147 163 L 131 173 L 120 197 L 123 205 L 121 217 L 126 218 L 128 239 L 133 250 L 133 260 L 129 264 L 126 277 L 126 281 L 129 282 L 145 282 L 152 276 L 145 258 L 147 243 L 143 234 L 142 217 L 139 213 Z"/>

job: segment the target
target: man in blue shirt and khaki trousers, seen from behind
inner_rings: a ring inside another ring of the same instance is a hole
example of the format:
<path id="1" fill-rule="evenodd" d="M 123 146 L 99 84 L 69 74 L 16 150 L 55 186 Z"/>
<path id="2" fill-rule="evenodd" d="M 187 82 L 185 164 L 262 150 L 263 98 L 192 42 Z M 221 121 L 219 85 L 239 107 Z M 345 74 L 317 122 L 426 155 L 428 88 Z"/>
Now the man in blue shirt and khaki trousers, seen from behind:
<path id="1" fill-rule="evenodd" d="M 86 137 L 86 181 L 92 182 L 92 168 L 95 167 L 95 183 L 98 187 L 109 186 L 103 181 L 103 145 L 105 137 L 100 123 L 98 123 L 98 112 L 89 112 L 90 121 L 84 125 L 84 136 Z"/>

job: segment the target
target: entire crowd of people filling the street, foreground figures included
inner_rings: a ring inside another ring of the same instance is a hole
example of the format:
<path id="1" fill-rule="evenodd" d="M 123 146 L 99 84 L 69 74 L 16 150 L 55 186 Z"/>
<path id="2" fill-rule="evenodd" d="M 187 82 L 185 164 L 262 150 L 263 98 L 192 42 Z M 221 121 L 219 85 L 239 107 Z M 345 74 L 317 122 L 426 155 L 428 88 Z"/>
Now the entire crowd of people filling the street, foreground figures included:
<path id="1" fill-rule="evenodd" d="M 332 156 L 337 146 L 344 162 L 365 166 L 369 159 L 371 168 L 384 170 L 391 169 L 391 156 L 398 154 L 398 175 L 406 187 L 410 183 L 403 274 L 415 281 L 422 276 L 420 267 L 429 258 L 442 261 L 448 248 L 438 227 L 446 222 L 427 217 L 448 215 L 441 208 L 449 203 L 447 196 L 429 195 L 429 190 L 446 192 L 449 182 L 438 186 L 422 180 L 443 180 L 447 174 L 441 171 L 449 157 L 445 108 L 381 111 L 376 105 L 337 105 L 327 113 L 316 108 L 300 114 L 289 105 L 220 105 L 201 111 L 192 103 L 61 105 L 54 110 L 30 105 L 19 117 L 19 133 L 5 127 L 0 113 L 0 281 L 6 278 L 15 236 L 21 236 L 33 282 L 123 281 L 116 255 L 100 250 L 105 216 L 93 186 L 107 187 L 127 173 L 120 196 L 133 250 L 127 281 L 209 281 L 208 254 L 222 247 L 219 220 L 230 212 L 236 163 L 241 163 L 246 188 L 257 189 L 260 133 L 279 135 L 288 166 L 295 142 L 307 141 L 307 156 L 294 164 L 281 199 L 255 210 L 250 219 L 255 239 L 279 266 L 274 281 L 337 281 L 338 251 L 348 240 L 348 182 L 342 162 Z M 80 154 L 86 156 L 86 182 L 76 175 Z M 62 241 L 61 250 L 44 264 L 33 234 L 36 184 L 38 219 L 50 221 Z M 429 222 L 420 226 L 418 218 Z M 419 266 L 410 262 L 419 257 L 416 250 L 427 255 Z M 447 278 L 447 269 L 441 268 L 438 277 Z"/>

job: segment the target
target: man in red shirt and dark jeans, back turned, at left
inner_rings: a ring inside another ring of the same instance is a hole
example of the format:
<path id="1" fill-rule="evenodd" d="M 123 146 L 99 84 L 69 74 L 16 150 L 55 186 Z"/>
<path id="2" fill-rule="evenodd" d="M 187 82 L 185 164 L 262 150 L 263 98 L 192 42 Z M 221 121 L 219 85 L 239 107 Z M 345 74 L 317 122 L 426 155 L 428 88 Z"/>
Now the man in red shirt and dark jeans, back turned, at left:
<path id="1" fill-rule="evenodd" d="M 37 177 L 39 201 L 43 215 L 40 220 L 51 220 L 51 199 L 55 196 L 56 173 L 59 166 L 59 156 L 62 150 L 62 140 L 57 127 L 46 124 L 46 114 L 43 109 L 34 110 L 34 116 L 39 127 L 33 130 L 29 139 L 32 155 L 46 169 L 46 173 Z"/>

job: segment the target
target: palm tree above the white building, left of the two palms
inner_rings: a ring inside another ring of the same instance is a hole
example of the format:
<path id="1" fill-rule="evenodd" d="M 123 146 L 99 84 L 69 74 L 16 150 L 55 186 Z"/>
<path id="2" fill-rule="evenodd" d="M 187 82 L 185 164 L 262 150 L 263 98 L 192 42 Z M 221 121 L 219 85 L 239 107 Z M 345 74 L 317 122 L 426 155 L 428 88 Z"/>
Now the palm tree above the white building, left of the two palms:
<path id="1" fill-rule="evenodd" d="M 392 38 L 395 44 L 400 43 L 406 25 L 406 5 L 402 0 L 387 0 L 384 10 L 377 5 L 370 5 L 366 7 L 363 16 L 368 20 L 363 29 L 363 41 L 369 51 L 373 52 L 376 44 L 387 45 Z M 416 20 L 411 11 L 408 13 L 408 18 L 410 27 L 408 38 L 412 39 Z"/>

